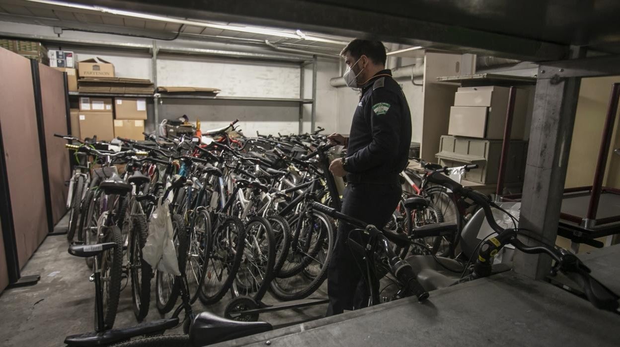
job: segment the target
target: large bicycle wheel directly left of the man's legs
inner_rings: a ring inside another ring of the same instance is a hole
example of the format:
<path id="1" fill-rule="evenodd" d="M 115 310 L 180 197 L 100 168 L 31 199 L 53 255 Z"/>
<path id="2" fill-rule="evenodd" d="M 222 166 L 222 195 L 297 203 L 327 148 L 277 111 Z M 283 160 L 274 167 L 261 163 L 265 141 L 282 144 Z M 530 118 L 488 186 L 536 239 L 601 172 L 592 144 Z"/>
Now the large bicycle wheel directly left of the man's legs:
<path id="1" fill-rule="evenodd" d="M 309 230 L 306 230 L 304 237 L 310 243 L 306 249 L 312 250 L 311 253 L 304 252 L 304 248 L 291 247 L 283 265 L 286 268 L 290 263 L 304 263 L 301 271 L 294 276 L 275 277 L 271 281 L 271 292 L 278 300 L 304 299 L 315 292 L 327 277 L 329 260 L 334 251 L 334 223 L 327 215 L 312 211 L 308 226 Z"/>

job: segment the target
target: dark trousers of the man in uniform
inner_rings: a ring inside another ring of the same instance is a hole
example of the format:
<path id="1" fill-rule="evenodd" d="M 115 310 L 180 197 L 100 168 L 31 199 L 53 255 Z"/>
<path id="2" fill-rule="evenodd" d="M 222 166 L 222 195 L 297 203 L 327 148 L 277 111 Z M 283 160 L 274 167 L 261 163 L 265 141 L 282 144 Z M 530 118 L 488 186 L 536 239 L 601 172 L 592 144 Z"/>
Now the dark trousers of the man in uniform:
<path id="1" fill-rule="evenodd" d="M 394 213 L 401 194 L 399 183 L 348 184 L 344 192 L 341 212 L 383 228 Z M 358 262 L 360 259 L 353 256 L 347 245 L 348 233 L 353 227 L 343 222 L 339 225 L 327 275 L 328 316 L 342 313 L 343 310 L 365 307 L 369 295 L 368 284 L 361 277 L 360 271 L 360 268 L 365 271 L 365 264 L 356 263 L 356 259 Z M 353 234 L 356 234 L 355 237 Z M 359 233 L 353 232 L 352 237 L 358 242 L 361 241 Z"/>

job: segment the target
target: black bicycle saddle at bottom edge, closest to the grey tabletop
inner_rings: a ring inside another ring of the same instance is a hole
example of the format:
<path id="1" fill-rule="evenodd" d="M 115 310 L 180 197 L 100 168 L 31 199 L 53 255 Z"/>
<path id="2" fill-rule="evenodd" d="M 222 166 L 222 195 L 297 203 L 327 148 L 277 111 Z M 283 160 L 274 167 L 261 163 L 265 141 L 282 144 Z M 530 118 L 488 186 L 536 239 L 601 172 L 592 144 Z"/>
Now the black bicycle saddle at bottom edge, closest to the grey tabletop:
<path id="1" fill-rule="evenodd" d="M 237 322 L 202 312 L 194 318 L 190 327 L 190 343 L 197 347 L 212 345 L 272 329 L 272 325 L 267 322 Z"/>

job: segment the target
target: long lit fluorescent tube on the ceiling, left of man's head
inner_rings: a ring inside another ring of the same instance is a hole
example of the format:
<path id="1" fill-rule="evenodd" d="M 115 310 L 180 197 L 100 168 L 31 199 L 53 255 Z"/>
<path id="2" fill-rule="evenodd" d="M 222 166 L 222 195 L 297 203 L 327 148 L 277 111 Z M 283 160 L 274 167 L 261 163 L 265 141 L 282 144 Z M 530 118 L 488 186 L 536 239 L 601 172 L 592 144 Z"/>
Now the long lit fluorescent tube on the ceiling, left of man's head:
<path id="1" fill-rule="evenodd" d="M 322 37 L 314 37 L 309 36 L 301 32 L 301 30 L 297 30 L 296 33 L 287 32 L 283 30 L 275 30 L 275 29 L 265 29 L 259 27 L 249 27 L 249 26 L 240 26 L 240 25 L 224 25 L 224 24 L 211 24 L 206 22 L 198 22 L 196 20 L 187 20 L 187 19 L 177 19 L 173 17 L 166 16 L 157 16 L 154 14 L 146 14 L 139 13 L 133 11 L 125 11 L 125 10 L 117 10 L 110 9 L 108 7 L 102 6 L 89 6 L 89 5 L 81 5 L 81 4 L 73 4 L 71 2 L 64 1 L 54 1 L 54 0 L 26 0 L 29 2 L 37 2 L 39 4 L 47 4 L 53 6 L 62 6 L 62 7 L 70 7 L 73 9 L 81 9 L 86 11 L 97 11 L 105 14 L 113 14 L 117 16 L 125 16 L 125 17 L 133 17 L 139 19 L 146 20 L 156 20 L 158 22 L 166 22 L 166 23 L 175 23 L 175 24 L 185 24 L 185 25 L 193 25 L 195 27 L 205 27 L 212 29 L 221 29 L 221 30 L 232 30 L 237 32 L 248 32 L 250 34 L 260 34 L 260 35 L 269 35 L 275 37 L 284 37 L 284 38 L 296 38 L 298 40 L 309 40 L 309 41 L 317 41 L 317 42 L 327 42 L 327 43 L 336 43 L 346 45 L 347 42 L 340 42 L 337 40 L 330 40 L 329 38 Z"/>

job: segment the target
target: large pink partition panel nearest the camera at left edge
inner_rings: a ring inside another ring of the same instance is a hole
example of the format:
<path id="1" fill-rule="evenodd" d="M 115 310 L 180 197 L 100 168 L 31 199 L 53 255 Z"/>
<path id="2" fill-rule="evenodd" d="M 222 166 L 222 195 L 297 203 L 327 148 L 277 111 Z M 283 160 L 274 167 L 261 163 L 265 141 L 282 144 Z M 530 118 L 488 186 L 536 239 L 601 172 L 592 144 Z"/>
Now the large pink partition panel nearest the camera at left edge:
<path id="1" fill-rule="evenodd" d="M 23 268 L 48 233 L 30 60 L 0 48 L 0 81 L 0 125 Z"/>

